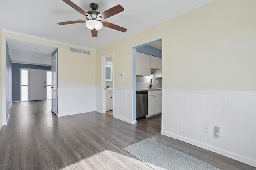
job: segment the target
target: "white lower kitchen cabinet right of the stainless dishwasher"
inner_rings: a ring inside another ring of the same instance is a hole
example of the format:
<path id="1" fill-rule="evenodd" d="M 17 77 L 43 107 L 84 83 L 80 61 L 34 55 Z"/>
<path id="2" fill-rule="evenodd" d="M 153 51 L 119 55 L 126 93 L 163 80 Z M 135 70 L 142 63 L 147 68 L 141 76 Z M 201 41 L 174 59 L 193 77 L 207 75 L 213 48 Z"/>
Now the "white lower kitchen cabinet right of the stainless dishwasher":
<path id="1" fill-rule="evenodd" d="M 162 90 L 148 90 L 148 115 L 157 115 L 162 112 Z"/>

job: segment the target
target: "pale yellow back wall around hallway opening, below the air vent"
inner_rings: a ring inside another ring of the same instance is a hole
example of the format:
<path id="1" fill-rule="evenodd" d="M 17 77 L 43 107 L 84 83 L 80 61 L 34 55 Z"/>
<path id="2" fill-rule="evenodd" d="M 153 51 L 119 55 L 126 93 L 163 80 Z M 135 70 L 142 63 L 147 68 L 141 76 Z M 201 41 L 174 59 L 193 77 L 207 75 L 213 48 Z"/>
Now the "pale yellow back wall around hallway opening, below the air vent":
<path id="1" fill-rule="evenodd" d="M 2 32 L 2 49 L 5 49 L 5 39 L 12 38 L 42 45 L 58 47 L 58 86 L 82 87 L 95 86 L 95 51 L 91 55 L 70 53 L 69 46 L 40 39 L 33 39 L 21 35 Z M 4 43 L 3 43 L 4 42 Z M 5 75 L 5 50 L 1 52 L 2 75 Z M 65 78 L 65 82 L 62 79 Z M 5 76 L 2 76 L 2 86 L 5 86 Z"/>

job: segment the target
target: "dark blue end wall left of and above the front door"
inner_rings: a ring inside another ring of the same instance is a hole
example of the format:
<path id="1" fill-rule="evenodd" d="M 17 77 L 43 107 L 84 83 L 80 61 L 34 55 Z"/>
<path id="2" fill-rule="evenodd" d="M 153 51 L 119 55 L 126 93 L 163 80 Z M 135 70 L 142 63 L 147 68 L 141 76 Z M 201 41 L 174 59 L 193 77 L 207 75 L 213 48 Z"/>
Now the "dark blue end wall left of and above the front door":
<path id="1" fill-rule="evenodd" d="M 20 68 L 52 70 L 51 66 L 12 63 L 12 101 L 20 101 Z"/>

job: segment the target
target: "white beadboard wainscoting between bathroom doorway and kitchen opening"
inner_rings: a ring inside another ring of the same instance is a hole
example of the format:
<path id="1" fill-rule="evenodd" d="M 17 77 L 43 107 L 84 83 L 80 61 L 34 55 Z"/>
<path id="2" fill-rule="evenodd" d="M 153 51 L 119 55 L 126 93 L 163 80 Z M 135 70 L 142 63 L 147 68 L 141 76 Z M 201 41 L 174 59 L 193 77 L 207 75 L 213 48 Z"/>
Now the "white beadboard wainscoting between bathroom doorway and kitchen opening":
<path id="1" fill-rule="evenodd" d="M 134 124 L 132 88 L 114 88 L 113 117 Z"/>

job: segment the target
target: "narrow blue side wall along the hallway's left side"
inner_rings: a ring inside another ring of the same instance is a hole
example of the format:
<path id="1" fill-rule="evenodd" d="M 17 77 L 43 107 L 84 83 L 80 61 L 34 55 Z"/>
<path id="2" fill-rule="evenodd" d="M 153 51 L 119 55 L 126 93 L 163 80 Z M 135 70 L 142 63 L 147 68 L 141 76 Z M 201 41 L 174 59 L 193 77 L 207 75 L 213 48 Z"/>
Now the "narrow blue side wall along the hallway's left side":
<path id="1" fill-rule="evenodd" d="M 8 116 L 9 116 L 9 108 L 12 104 L 12 61 L 9 55 L 9 47 L 6 41 L 6 72 L 5 72 L 5 86 L 6 86 L 6 119 L 8 120 Z"/>

